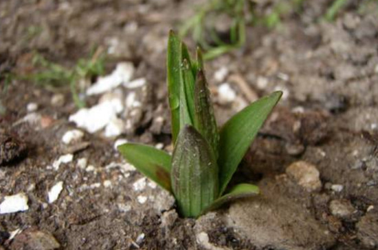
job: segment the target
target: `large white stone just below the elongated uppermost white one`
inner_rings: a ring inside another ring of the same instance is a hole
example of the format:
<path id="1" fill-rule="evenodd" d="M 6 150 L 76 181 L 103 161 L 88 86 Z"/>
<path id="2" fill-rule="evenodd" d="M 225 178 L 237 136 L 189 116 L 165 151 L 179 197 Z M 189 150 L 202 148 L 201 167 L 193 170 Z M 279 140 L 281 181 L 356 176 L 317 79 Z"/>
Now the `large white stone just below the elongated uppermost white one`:
<path id="1" fill-rule="evenodd" d="M 95 133 L 116 118 L 122 110 L 122 102 L 115 98 L 103 101 L 91 108 L 82 108 L 69 116 L 69 121 L 73 121 L 78 127 L 82 127 L 89 133 Z"/>

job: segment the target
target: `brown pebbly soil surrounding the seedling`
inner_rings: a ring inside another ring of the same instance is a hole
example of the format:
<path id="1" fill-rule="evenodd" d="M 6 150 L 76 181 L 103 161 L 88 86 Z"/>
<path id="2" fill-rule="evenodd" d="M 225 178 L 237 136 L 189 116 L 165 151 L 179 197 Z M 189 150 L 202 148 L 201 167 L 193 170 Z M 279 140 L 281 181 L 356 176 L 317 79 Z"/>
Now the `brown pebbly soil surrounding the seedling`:
<path id="1" fill-rule="evenodd" d="M 269 8 L 271 1 L 264 2 L 261 8 Z M 377 5 L 362 10 L 362 1 L 349 1 L 327 22 L 321 18 L 327 1 L 304 1 L 302 12 L 285 15 L 276 29 L 248 27 L 243 48 L 207 62 L 220 125 L 238 110 L 235 103 L 219 101 L 217 89 L 224 82 L 242 103 L 284 92 L 232 179 L 232 184 L 258 184 L 259 197 L 234 201 L 197 220 L 179 218 L 173 197 L 114 149 L 116 139 L 126 138 L 172 150 L 166 40 L 169 29 L 192 15 L 192 5 L 0 2 L 1 75 L 32 72 L 33 51 L 69 67 L 93 47 L 113 46 L 107 73 L 118 62 L 132 62 L 133 79 L 147 82 L 137 91 L 142 108 L 122 135 L 82 130 L 84 137 L 67 146 L 62 136 L 76 128 L 68 118 L 77 111 L 69 91 L 12 79 L 1 94 L 0 202 L 23 192 L 29 208 L 0 215 L 0 249 L 378 248 Z M 194 48 L 190 38 L 186 42 Z M 225 79 L 214 77 L 223 67 Z M 3 87 L 5 79 L 0 80 Z M 131 92 L 118 90 L 113 94 Z M 35 111 L 27 110 L 30 103 L 38 105 Z M 126 121 L 127 115 L 121 118 Z M 56 167 L 54 161 L 67 154 L 73 160 Z M 320 186 L 287 171 L 298 161 Z M 49 203 L 47 194 L 60 181 L 63 190 Z"/>

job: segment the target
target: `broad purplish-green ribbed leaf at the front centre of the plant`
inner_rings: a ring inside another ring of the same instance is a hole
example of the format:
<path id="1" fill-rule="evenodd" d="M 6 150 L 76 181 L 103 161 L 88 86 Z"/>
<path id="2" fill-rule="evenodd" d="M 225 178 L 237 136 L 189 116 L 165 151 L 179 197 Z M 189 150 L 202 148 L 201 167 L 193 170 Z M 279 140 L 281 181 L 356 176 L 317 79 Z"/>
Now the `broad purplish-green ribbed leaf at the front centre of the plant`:
<path id="1" fill-rule="evenodd" d="M 179 212 L 197 217 L 218 197 L 218 166 L 212 149 L 192 126 L 181 129 L 170 175 Z"/>

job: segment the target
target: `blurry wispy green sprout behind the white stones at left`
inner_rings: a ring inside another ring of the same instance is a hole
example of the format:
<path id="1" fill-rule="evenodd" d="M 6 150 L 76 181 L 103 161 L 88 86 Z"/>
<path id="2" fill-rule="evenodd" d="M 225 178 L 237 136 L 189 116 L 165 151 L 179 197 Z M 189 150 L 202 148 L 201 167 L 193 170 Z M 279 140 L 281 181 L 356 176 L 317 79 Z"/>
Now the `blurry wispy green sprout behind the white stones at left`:
<path id="1" fill-rule="evenodd" d="M 38 72 L 27 75 L 25 78 L 47 88 L 69 87 L 74 103 L 78 108 L 83 108 L 85 107 L 85 102 L 80 99 L 78 92 L 82 92 L 86 86 L 80 86 L 79 83 L 83 79 L 90 80 L 92 77 L 103 75 L 104 60 L 102 49 L 97 49 L 95 53 L 91 53 L 88 59 L 81 58 L 73 68 L 67 68 L 50 62 L 43 55 L 35 53 L 33 64 L 38 68 Z"/>

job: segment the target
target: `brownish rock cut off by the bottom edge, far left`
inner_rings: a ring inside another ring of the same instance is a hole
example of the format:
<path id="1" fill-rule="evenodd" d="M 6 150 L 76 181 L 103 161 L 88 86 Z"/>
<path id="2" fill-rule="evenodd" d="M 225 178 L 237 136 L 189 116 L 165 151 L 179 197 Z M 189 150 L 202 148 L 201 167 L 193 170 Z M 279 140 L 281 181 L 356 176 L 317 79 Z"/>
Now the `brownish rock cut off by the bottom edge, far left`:
<path id="1" fill-rule="evenodd" d="M 58 248 L 60 248 L 60 244 L 56 241 L 54 236 L 32 227 L 15 236 L 10 245 L 11 250 L 52 250 Z"/>

